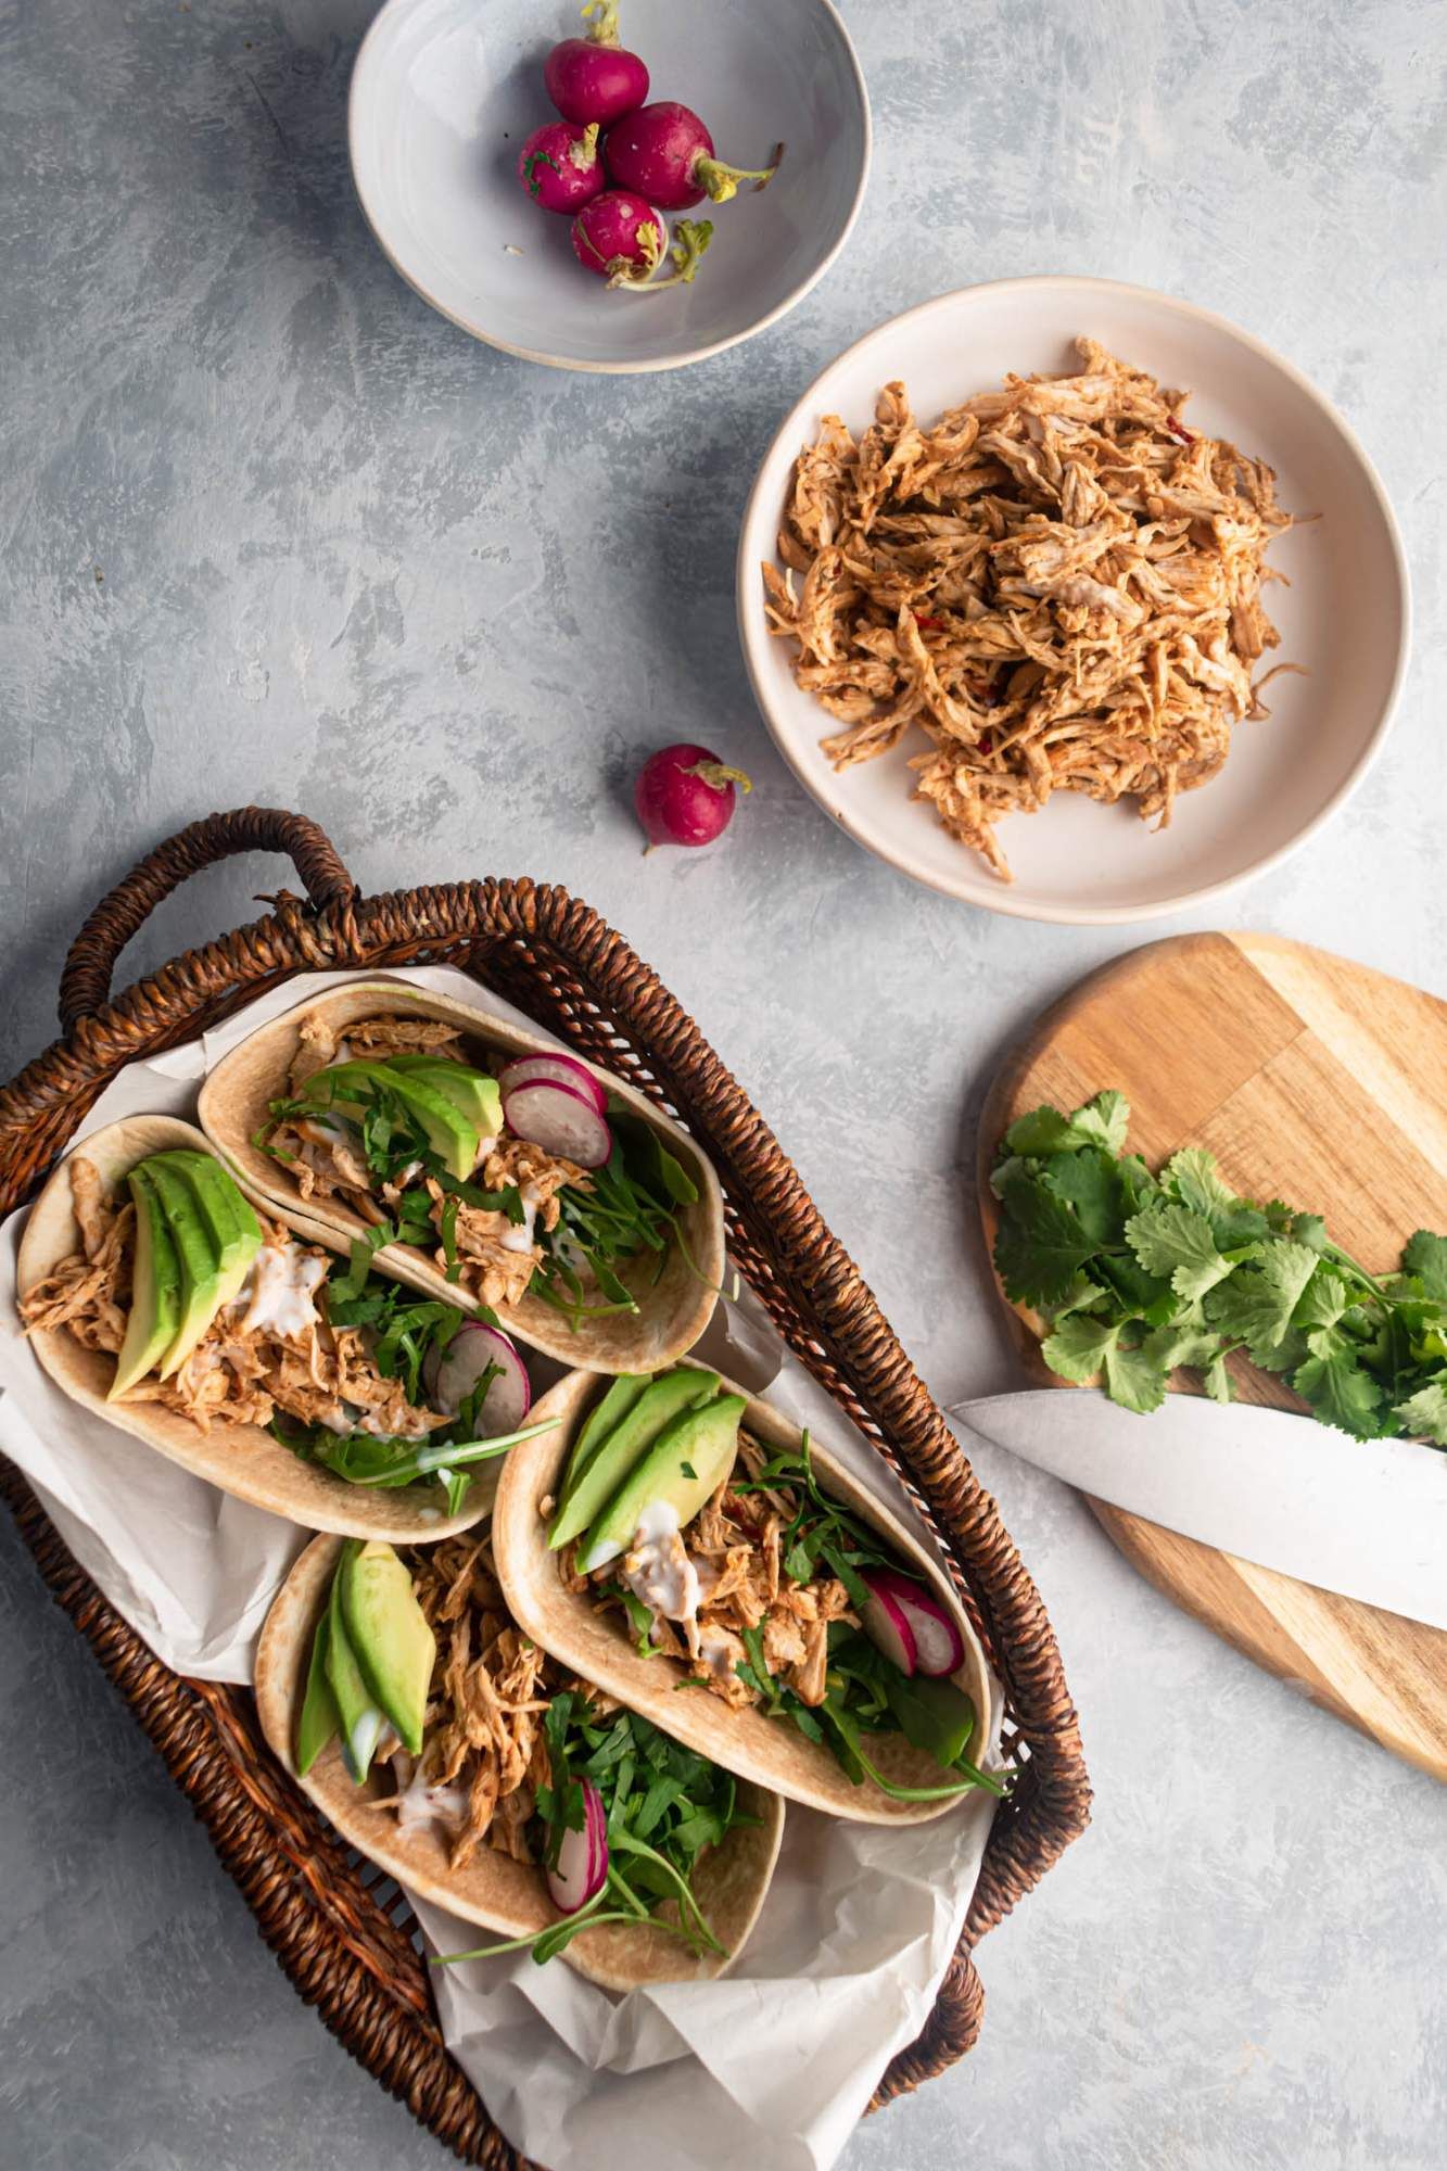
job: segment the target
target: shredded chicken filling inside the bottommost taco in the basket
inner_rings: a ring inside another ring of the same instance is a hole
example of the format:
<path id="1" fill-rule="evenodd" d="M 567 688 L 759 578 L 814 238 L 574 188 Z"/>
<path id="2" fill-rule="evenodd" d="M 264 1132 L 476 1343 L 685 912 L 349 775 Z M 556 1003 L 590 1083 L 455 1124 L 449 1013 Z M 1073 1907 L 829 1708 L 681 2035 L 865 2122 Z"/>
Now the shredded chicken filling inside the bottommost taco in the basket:
<path id="1" fill-rule="evenodd" d="M 482 1843 L 530 1863 L 528 1819 L 548 1785 L 543 1715 L 563 1687 L 582 1689 L 597 1717 L 613 1700 L 563 1672 L 530 1643 L 506 1609 L 491 1539 L 469 1531 L 402 1559 L 437 1637 L 432 1693 L 417 1763 L 395 1748 L 398 1791 L 374 1806 L 402 1828 L 441 1824 L 452 1869 Z"/>

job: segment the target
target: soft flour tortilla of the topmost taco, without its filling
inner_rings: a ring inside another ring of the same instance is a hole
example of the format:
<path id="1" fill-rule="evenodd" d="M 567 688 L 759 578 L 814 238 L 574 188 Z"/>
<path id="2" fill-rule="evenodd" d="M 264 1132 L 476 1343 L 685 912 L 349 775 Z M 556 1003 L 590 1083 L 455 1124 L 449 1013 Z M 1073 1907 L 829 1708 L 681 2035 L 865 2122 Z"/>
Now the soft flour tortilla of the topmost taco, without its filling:
<path id="1" fill-rule="evenodd" d="M 317 1012 L 335 1025 L 339 1036 L 358 1018 L 421 1016 L 445 1018 L 467 1038 L 500 1049 L 504 1055 L 556 1055 L 556 1049 L 545 1040 L 534 1040 L 532 1033 L 504 1025 L 502 1018 L 491 1018 L 482 1010 L 452 1003 L 443 994 L 404 988 L 398 981 L 356 981 L 289 1010 L 222 1057 L 202 1088 L 200 1122 L 241 1190 L 293 1224 L 306 1220 L 315 1227 L 330 1227 L 348 1244 L 367 1233 L 367 1222 L 339 1198 L 304 1201 L 287 1164 L 272 1159 L 254 1144 L 256 1133 L 269 1122 L 272 1101 L 287 1094 L 302 1018 Z M 593 1075 L 663 1135 L 669 1153 L 693 1177 L 697 1203 L 682 1207 L 678 1220 L 695 1272 L 689 1270 L 680 1246 L 671 1244 L 656 1285 L 637 1290 L 637 1313 L 582 1320 L 574 1333 L 552 1305 L 528 1294 L 517 1305 L 500 1307 L 498 1318 L 511 1335 L 548 1357 L 556 1357 L 558 1363 L 584 1366 L 591 1372 L 656 1372 L 676 1363 L 697 1342 L 713 1313 L 715 1294 L 724 1279 L 724 1198 L 713 1168 L 693 1140 L 660 1116 L 652 1101 L 645 1101 L 632 1086 L 624 1086 L 606 1070 Z M 419 1246 L 387 1244 L 378 1259 L 387 1272 L 426 1296 L 443 1296 L 454 1305 L 469 1307 L 469 1298 L 452 1287 L 435 1257 Z M 652 1272 L 652 1259 L 650 1253 L 647 1272 Z"/>

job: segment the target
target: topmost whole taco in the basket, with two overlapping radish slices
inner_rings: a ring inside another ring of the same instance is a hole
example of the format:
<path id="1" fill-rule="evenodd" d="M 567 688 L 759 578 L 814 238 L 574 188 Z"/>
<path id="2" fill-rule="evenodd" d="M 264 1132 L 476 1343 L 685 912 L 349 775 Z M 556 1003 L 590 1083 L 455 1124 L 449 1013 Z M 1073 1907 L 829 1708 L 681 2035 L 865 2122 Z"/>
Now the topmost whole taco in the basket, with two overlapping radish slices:
<path id="1" fill-rule="evenodd" d="M 543 1068 L 545 1064 L 545 1068 Z M 658 1368 L 724 1274 L 708 1161 L 630 1086 L 402 981 L 263 1025 L 200 1096 L 243 1190 L 567 1366 Z"/>

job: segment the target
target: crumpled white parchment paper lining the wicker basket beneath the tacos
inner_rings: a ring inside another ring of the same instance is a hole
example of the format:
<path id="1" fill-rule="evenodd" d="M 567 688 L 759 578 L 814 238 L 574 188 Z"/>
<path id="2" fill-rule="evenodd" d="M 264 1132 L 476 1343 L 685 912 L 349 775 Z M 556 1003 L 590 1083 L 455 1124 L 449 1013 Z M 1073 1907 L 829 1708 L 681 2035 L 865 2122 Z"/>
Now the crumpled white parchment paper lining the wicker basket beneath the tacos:
<path id="1" fill-rule="evenodd" d="M 85 1131 L 119 1116 L 193 1116 L 206 1070 L 246 1033 L 356 973 L 313 973 L 215 1033 L 133 1064 Z M 415 986 L 476 1003 L 476 981 L 415 968 Z M 485 1007 L 537 1031 L 500 996 Z M 0 1229 L 0 1450 L 137 1635 L 180 1674 L 250 1683 L 256 1635 L 306 1531 L 232 1500 L 52 1385 L 15 1322 L 24 1216 Z M 747 1300 L 719 1307 L 702 1353 L 815 1426 L 895 1509 L 908 1502 L 817 1383 L 782 1357 Z M 782 1357 L 782 1370 L 780 1370 Z M 778 1372 L 778 1376 L 776 1376 Z M 993 1802 L 882 1828 L 787 1811 L 763 1919 L 721 1982 L 613 1997 L 528 1954 L 437 1969 L 452 2054 L 508 2141 L 552 2171 L 826 2171 L 891 2056 L 923 2028 L 980 1871 Z M 430 1950 L 485 1941 L 415 1895 Z"/>

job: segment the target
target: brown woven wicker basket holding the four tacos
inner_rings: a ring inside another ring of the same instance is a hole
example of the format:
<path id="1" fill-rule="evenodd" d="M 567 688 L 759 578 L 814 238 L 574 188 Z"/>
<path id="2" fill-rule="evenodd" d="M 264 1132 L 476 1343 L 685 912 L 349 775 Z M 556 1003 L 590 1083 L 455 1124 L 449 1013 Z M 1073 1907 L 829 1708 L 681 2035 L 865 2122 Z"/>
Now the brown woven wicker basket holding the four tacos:
<path id="1" fill-rule="evenodd" d="M 154 905 L 187 875 L 241 851 L 287 853 L 311 903 L 280 892 L 267 918 L 111 996 L 113 966 Z M 719 1170 L 739 1268 L 793 1353 L 908 1485 L 999 1669 L 1019 1780 L 995 1817 L 934 2013 L 876 2091 L 876 2106 L 886 2104 L 976 2041 L 984 1991 L 971 1947 L 1086 1824 L 1075 1711 L 1049 1622 L 995 1505 L 858 1268 L 719 1057 L 628 944 L 587 905 L 530 881 L 363 899 L 315 823 L 272 808 L 211 814 L 141 860 L 80 929 L 61 977 L 65 1038 L 0 1092 L 0 1214 L 35 1190 L 124 1064 L 193 1038 L 295 973 L 424 962 L 474 973 L 693 1131 Z M 302 1997 L 465 2162 L 519 2171 L 521 2158 L 443 2047 L 411 1910 L 272 1763 L 250 1693 L 159 1665 L 4 1461 L 0 1485 L 56 1602 L 187 1793 Z"/>

